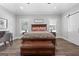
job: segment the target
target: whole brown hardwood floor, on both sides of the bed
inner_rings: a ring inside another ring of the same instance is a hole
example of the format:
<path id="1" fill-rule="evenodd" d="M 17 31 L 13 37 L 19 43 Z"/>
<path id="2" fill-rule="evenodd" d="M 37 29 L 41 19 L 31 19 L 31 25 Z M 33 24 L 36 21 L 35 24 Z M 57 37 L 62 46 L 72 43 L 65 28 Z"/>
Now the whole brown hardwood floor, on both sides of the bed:
<path id="1" fill-rule="evenodd" d="M 0 56 L 20 56 L 21 40 L 15 40 L 12 46 L 0 47 Z M 56 39 L 56 56 L 79 56 L 79 46 L 62 38 Z"/>

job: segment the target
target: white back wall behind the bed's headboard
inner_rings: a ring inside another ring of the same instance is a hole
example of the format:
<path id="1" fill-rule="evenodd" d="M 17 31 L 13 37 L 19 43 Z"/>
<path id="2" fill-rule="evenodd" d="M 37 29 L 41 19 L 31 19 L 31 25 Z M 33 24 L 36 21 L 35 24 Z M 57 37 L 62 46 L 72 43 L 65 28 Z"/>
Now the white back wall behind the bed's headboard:
<path id="1" fill-rule="evenodd" d="M 21 35 L 21 26 L 23 22 L 28 22 L 28 30 L 31 31 L 31 24 L 34 23 L 34 19 L 44 19 L 44 23 L 56 24 L 57 33 L 60 33 L 60 16 L 59 15 L 30 15 L 30 16 L 17 16 L 17 36 Z M 58 27 L 59 26 L 59 27 Z"/>

